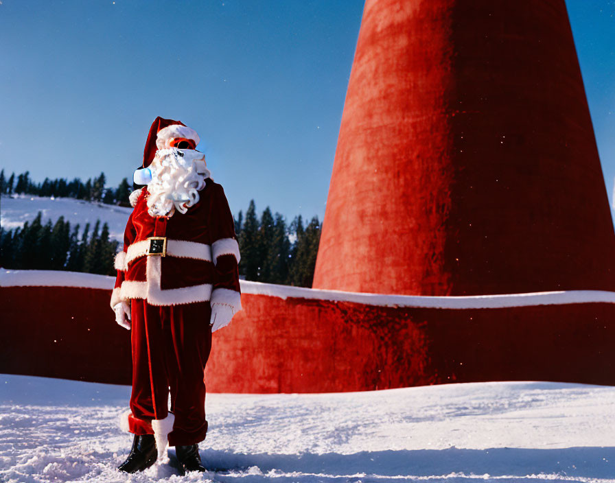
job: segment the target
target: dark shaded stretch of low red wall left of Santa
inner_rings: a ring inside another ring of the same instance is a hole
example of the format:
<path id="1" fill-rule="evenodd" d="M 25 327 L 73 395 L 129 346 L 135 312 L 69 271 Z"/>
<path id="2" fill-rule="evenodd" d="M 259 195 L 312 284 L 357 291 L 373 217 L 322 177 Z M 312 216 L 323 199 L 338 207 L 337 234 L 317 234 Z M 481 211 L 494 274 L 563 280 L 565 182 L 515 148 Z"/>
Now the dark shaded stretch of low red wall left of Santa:
<path id="1" fill-rule="evenodd" d="M 130 333 L 109 290 L 0 287 L 0 300 L 0 373 L 130 384 Z"/>

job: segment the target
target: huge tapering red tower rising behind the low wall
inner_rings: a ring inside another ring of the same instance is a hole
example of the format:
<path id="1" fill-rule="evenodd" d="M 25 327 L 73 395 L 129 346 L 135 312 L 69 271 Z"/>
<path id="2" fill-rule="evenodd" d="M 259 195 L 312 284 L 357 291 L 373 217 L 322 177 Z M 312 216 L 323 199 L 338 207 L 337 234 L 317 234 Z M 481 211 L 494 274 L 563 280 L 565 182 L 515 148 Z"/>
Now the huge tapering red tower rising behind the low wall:
<path id="1" fill-rule="evenodd" d="M 367 0 L 314 288 L 615 290 L 564 0 Z"/>

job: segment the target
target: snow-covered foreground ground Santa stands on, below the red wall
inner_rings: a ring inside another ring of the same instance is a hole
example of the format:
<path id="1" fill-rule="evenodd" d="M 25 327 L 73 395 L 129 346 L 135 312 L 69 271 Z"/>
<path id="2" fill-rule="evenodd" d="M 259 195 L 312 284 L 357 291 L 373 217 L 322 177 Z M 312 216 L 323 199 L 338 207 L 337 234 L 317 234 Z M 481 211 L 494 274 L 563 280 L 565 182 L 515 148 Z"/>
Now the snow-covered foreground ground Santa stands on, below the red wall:
<path id="1" fill-rule="evenodd" d="M 208 394 L 211 469 L 115 470 L 130 388 L 0 376 L 0 481 L 615 482 L 615 388 L 506 382 Z M 217 470 L 217 471 L 216 471 Z M 222 471 L 224 470 L 224 471 Z"/>

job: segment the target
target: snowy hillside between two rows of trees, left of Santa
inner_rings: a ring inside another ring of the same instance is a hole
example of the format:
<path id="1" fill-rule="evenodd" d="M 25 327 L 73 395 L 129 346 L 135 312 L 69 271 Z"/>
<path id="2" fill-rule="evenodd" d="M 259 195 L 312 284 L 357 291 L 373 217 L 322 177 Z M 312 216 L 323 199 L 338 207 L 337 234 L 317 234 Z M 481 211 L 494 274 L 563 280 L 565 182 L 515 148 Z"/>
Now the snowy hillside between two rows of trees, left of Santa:
<path id="1" fill-rule="evenodd" d="M 19 228 L 25 222 L 32 222 L 39 211 L 43 212 L 43 224 L 47 220 L 55 223 L 60 216 L 64 216 L 65 220 L 71 222 L 71 226 L 80 224 L 81 230 L 86 223 L 89 223 L 90 233 L 92 233 L 91 230 L 96 220 L 100 219 L 101 225 L 104 222 L 108 223 L 111 238 L 121 242 L 124 240 L 124 228 L 126 228 L 132 208 L 74 200 L 73 198 L 40 198 L 31 195 L 2 196 L 0 224 L 8 230 Z"/>

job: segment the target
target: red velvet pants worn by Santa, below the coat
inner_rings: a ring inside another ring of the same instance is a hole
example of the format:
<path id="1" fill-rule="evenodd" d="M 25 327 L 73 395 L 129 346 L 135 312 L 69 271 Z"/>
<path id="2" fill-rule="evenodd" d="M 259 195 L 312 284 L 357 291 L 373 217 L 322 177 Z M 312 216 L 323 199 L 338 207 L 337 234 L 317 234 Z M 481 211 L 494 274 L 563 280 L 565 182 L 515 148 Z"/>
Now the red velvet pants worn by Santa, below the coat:
<path id="1" fill-rule="evenodd" d="M 152 419 L 175 416 L 169 445 L 205 439 L 204 371 L 211 351 L 208 302 L 173 306 L 132 299 L 130 432 L 154 434 Z"/>

